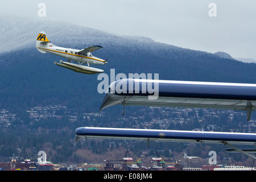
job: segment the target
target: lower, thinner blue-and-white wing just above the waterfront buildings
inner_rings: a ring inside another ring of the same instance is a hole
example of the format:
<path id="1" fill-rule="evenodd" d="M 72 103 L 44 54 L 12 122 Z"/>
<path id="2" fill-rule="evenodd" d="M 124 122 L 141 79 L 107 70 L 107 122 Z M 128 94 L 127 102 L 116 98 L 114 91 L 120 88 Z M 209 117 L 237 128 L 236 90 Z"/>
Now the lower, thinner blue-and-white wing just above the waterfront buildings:
<path id="1" fill-rule="evenodd" d="M 76 141 L 83 138 L 125 139 L 159 142 L 200 142 L 255 144 L 254 133 L 224 133 L 213 131 L 119 129 L 104 127 L 79 127 L 75 131 Z"/>

